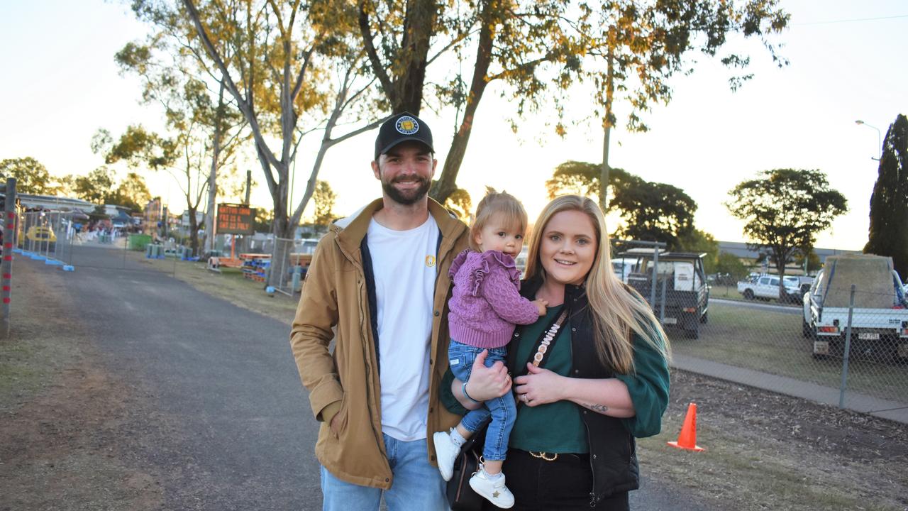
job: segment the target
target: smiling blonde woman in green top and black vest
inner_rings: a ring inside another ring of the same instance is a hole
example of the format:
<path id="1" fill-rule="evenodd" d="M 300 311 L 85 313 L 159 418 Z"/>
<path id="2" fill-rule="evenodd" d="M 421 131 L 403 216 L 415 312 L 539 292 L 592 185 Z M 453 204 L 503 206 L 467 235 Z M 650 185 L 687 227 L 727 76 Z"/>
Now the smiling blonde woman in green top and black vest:
<path id="1" fill-rule="evenodd" d="M 515 509 L 628 509 L 627 492 L 639 486 L 634 437 L 661 428 L 666 336 L 646 300 L 617 279 L 608 252 L 592 200 L 561 196 L 539 215 L 521 294 L 547 300 L 548 312 L 518 326 L 508 346 L 510 372 L 521 375 L 504 465 Z M 466 386 L 450 386 L 464 407 L 510 390 L 502 366 L 481 364 Z"/>

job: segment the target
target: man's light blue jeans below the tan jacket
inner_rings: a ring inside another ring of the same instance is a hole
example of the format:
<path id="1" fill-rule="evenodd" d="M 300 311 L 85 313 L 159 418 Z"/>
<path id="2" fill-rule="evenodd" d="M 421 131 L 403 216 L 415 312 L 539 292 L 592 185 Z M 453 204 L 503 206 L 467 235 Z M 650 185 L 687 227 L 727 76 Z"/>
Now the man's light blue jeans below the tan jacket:
<path id="1" fill-rule="evenodd" d="M 322 511 L 376 511 L 384 494 L 388 511 L 449 511 L 445 481 L 439 469 L 429 465 L 426 440 L 404 442 L 387 435 L 385 451 L 394 482 L 390 490 L 341 481 L 321 467 Z"/>

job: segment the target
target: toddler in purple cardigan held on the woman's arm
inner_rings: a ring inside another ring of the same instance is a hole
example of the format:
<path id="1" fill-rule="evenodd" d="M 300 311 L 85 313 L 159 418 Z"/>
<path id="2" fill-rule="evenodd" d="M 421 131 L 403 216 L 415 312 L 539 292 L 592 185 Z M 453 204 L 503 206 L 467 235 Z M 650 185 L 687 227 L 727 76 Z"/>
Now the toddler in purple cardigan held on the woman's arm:
<path id="1" fill-rule="evenodd" d="M 454 290 L 449 301 L 448 363 L 454 376 L 466 382 L 477 356 L 488 352 L 485 365 L 502 363 L 514 325 L 536 323 L 546 315 L 544 300 L 520 296 L 520 270 L 514 257 L 523 247 L 527 212 L 512 195 L 489 192 L 476 208 L 469 226 L 469 250 L 451 264 Z M 470 477 L 469 486 L 492 504 L 508 508 L 514 496 L 501 473 L 508 450 L 508 436 L 517 408 L 510 393 L 484 402 L 471 410 L 450 432 L 433 436 L 441 476 L 449 481 L 460 446 L 491 417 L 482 451 L 484 463 Z"/>

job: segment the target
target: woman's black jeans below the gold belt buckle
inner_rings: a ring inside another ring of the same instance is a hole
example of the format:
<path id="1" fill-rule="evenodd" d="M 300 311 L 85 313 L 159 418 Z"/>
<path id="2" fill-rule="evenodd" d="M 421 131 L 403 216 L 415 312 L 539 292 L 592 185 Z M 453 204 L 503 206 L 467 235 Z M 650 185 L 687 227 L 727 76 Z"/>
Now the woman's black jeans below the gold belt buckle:
<path id="1" fill-rule="evenodd" d="M 514 494 L 516 511 L 569 511 L 603 509 L 628 511 L 627 492 L 589 505 L 593 487 L 593 469 L 589 455 L 560 454 L 555 461 L 531 456 L 527 451 L 508 449 L 503 467 L 507 485 Z M 483 509 L 498 509 L 489 502 Z"/>

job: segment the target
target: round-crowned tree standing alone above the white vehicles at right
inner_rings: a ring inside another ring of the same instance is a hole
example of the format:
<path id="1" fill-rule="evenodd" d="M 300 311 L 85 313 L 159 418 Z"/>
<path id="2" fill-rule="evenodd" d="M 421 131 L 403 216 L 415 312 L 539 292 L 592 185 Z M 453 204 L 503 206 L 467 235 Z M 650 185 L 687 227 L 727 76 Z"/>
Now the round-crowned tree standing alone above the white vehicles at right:
<path id="1" fill-rule="evenodd" d="M 767 250 L 779 276 L 798 251 L 814 246 L 816 235 L 848 211 L 847 201 L 819 170 L 765 170 L 735 186 L 725 207 L 744 220 L 751 250 Z M 779 296 L 785 296 L 779 279 Z"/>

